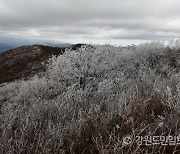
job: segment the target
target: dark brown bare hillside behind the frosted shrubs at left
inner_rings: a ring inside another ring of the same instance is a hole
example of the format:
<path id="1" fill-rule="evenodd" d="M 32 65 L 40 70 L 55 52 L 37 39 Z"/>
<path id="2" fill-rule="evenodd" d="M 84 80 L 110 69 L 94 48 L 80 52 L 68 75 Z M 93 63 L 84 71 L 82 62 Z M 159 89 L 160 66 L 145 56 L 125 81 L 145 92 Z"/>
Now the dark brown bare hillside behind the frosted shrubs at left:
<path id="1" fill-rule="evenodd" d="M 53 55 L 58 56 L 68 48 L 77 49 L 83 44 L 70 47 L 52 47 L 47 45 L 21 46 L 0 53 L 0 84 L 17 79 L 27 79 L 37 73 L 43 72 L 47 62 Z"/>

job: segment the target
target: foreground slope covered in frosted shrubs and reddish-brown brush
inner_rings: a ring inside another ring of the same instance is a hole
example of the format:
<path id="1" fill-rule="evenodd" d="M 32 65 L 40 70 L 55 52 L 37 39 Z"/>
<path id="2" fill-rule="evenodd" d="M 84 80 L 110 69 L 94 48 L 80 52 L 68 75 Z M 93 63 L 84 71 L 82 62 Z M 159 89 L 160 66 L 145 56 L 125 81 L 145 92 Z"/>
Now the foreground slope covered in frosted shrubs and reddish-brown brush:
<path id="1" fill-rule="evenodd" d="M 71 48 L 43 76 L 0 86 L 3 154 L 179 153 L 179 134 L 179 47 Z"/>

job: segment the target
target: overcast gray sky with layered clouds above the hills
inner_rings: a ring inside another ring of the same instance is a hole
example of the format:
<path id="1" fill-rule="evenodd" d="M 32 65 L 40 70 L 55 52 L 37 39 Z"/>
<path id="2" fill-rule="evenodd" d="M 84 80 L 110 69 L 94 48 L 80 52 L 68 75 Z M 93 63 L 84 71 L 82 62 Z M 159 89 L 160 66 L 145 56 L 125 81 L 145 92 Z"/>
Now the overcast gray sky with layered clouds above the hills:
<path id="1" fill-rule="evenodd" d="M 137 43 L 180 36 L 180 0 L 0 0 L 0 37 Z"/>

